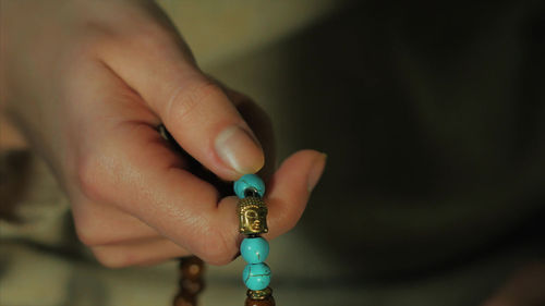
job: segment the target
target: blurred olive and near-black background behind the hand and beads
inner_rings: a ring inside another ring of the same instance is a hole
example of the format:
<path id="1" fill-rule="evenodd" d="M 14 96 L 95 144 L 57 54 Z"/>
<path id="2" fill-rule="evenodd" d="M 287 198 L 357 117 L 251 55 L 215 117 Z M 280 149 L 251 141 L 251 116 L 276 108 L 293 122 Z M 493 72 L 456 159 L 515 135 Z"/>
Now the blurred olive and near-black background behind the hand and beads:
<path id="1" fill-rule="evenodd" d="M 160 4 L 204 71 L 268 111 L 280 159 L 328 154 L 271 242 L 277 305 L 482 305 L 544 260 L 542 1 Z M 101 268 L 43 161 L 2 152 L 1 171 L 20 220 L 0 221 L 0 304 L 170 305 L 174 262 Z M 242 305 L 243 267 L 208 267 L 203 305 Z"/>

